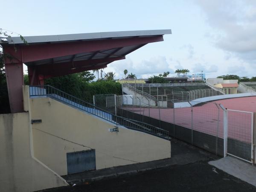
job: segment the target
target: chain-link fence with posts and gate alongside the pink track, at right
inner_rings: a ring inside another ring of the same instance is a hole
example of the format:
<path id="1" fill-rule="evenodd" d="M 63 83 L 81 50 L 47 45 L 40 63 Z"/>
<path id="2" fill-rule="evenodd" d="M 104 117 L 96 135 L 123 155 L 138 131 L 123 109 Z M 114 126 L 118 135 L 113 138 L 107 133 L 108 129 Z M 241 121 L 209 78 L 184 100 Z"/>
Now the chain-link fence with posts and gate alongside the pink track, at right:
<path id="1" fill-rule="evenodd" d="M 226 110 L 215 102 L 173 102 L 168 97 L 163 99 L 172 103 L 168 106 L 161 106 L 158 101 L 154 107 L 149 105 L 150 101 L 148 105 L 138 105 L 134 103 L 135 99 L 132 101 L 122 108 L 123 114 L 128 115 L 126 117 L 166 129 L 171 136 L 215 154 L 225 156 L 228 152 L 252 161 L 253 113 Z"/>

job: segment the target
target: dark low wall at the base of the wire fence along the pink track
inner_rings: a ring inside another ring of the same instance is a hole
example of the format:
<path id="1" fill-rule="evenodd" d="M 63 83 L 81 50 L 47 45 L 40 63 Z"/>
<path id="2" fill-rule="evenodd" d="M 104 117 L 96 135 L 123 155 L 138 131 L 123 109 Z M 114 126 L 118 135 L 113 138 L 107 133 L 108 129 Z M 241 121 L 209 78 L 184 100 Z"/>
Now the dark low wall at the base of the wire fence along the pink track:
<path id="1" fill-rule="evenodd" d="M 224 140 L 221 137 L 216 137 L 201 131 L 192 130 L 190 128 L 175 125 L 170 122 L 160 121 L 159 119 L 152 117 L 132 113 L 131 111 L 123 110 L 122 115 L 127 118 L 132 118 L 137 121 L 143 121 L 150 125 L 160 127 L 169 131 L 169 135 L 171 137 L 175 137 L 179 140 L 191 143 L 192 145 L 195 145 L 213 154 L 218 154 L 221 157 L 224 156 Z M 251 145 L 248 143 L 228 138 L 227 151 L 228 153 L 236 155 L 237 157 L 248 161 L 251 160 Z"/>

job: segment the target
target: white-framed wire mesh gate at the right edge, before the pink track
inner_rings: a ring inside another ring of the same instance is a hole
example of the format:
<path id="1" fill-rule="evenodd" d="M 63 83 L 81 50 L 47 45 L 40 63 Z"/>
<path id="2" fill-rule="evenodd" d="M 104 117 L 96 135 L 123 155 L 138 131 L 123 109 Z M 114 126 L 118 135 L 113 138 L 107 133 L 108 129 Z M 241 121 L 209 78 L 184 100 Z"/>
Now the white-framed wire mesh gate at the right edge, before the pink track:
<path id="1" fill-rule="evenodd" d="M 253 113 L 227 110 L 227 154 L 253 163 Z"/>

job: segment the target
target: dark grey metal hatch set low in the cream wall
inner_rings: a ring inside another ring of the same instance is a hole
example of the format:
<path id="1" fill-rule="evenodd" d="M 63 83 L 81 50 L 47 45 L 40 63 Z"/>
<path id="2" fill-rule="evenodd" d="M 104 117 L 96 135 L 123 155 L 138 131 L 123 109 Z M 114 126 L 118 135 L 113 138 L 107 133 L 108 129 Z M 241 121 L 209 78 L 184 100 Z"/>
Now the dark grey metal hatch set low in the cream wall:
<path id="1" fill-rule="evenodd" d="M 67 174 L 96 169 L 95 149 L 67 153 Z"/>

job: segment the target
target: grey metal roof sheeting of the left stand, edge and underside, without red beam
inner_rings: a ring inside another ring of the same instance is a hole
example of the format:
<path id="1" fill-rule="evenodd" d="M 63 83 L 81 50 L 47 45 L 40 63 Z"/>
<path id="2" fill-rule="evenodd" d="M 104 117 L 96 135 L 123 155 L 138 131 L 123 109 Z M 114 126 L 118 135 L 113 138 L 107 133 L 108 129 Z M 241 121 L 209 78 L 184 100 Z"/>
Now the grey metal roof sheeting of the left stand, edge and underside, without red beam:
<path id="1" fill-rule="evenodd" d="M 171 29 L 165 30 L 148 30 L 148 31 L 127 31 L 127 32 L 99 32 L 99 33 L 84 33 L 84 34 L 71 34 L 71 35 L 47 35 L 47 36 L 31 36 L 24 37 L 29 44 L 55 44 L 64 42 L 74 41 L 100 41 L 103 39 L 125 39 L 125 38 L 144 38 L 152 36 L 160 36 L 164 34 L 171 34 Z M 11 42 L 10 42 L 11 41 Z M 23 44 L 19 37 L 9 39 L 9 44 Z M 132 45 L 127 47 L 117 47 L 114 49 L 105 49 L 97 52 L 84 52 L 76 55 L 67 55 L 63 57 L 51 58 L 41 61 L 33 61 L 25 63 L 27 66 L 30 65 L 41 65 L 41 64 L 58 64 L 74 61 L 93 61 L 94 59 L 105 59 L 105 58 L 117 58 L 125 57 L 129 53 L 133 52 L 145 44 Z M 92 62 L 93 63 L 93 62 Z M 104 66 L 111 62 L 104 62 L 101 64 L 94 64 L 92 66 Z M 90 65 L 87 65 L 90 67 Z"/>

